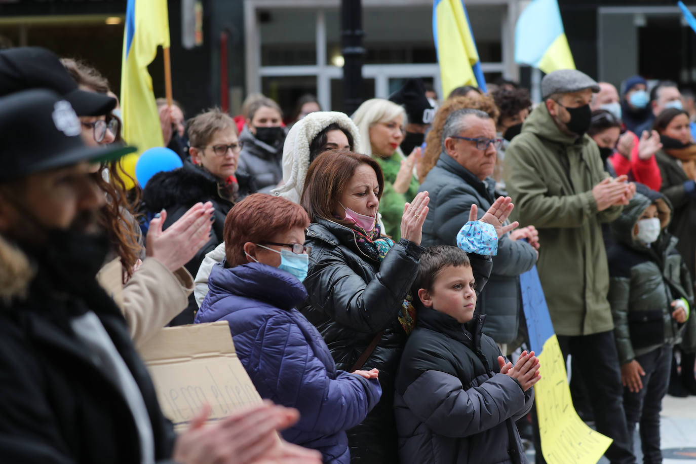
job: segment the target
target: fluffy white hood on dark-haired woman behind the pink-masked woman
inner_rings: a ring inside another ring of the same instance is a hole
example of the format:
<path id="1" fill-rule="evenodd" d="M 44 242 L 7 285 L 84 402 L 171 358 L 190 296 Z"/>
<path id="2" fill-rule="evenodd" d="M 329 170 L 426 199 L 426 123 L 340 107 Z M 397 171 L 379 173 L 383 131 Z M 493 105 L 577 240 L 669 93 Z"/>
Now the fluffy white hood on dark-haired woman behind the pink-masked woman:
<path id="1" fill-rule="evenodd" d="M 332 124 L 353 136 L 353 151 L 361 152 L 358 127 L 345 113 L 316 111 L 295 122 L 285 137 L 283 145 L 283 181 L 285 184 L 271 190 L 271 195 L 281 196 L 299 203 L 309 168 L 309 145 L 319 132 Z"/>

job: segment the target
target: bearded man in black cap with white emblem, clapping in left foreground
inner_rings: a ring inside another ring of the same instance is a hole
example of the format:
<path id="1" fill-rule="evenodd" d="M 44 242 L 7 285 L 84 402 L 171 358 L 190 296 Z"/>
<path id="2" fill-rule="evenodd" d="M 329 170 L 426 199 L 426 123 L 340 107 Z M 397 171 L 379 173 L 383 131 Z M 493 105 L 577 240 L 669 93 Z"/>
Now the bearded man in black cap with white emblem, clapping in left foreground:
<path id="1" fill-rule="evenodd" d="M 174 435 L 125 320 L 95 280 L 108 243 L 88 164 L 132 149 L 87 147 L 80 131 L 70 103 L 49 90 L 0 98 L 1 461 L 318 462 L 278 440 L 296 412 L 268 405 L 209 429 L 198 417 Z"/>

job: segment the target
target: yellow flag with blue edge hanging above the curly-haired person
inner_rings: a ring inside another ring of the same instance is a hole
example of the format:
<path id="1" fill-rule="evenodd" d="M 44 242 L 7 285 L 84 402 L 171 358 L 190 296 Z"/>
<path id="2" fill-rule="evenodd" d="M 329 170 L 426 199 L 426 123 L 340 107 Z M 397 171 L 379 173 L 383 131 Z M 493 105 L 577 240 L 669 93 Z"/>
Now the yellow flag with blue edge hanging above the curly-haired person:
<path id="1" fill-rule="evenodd" d="M 433 1 L 433 38 L 444 97 L 459 86 L 477 86 L 486 92 L 464 1 Z"/>

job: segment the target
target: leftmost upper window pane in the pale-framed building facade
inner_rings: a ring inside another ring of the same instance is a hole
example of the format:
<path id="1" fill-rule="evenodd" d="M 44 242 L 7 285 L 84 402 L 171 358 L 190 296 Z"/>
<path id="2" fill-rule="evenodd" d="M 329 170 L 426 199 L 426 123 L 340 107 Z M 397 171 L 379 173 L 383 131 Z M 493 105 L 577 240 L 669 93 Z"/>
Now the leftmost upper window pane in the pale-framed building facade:
<path id="1" fill-rule="evenodd" d="M 315 10 L 259 10 L 257 19 L 262 66 L 317 64 Z"/>

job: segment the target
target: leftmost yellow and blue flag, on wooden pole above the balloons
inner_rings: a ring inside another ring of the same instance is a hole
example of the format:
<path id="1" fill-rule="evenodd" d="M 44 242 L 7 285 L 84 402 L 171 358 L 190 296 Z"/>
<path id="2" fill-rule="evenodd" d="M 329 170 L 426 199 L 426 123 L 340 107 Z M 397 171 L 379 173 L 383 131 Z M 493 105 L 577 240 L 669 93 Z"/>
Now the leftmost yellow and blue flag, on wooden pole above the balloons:
<path id="1" fill-rule="evenodd" d="M 132 177 L 140 154 L 164 145 L 152 77 L 148 73 L 158 45 L 169 47 L 167 1 L 128 0 L 121 66 L 121 115 L 123 138 L 129 145 L 138 147 L 138 152 L 124 157 L 121 163 Z M 131 182 L 127 184 L 132 186 Z"/>

